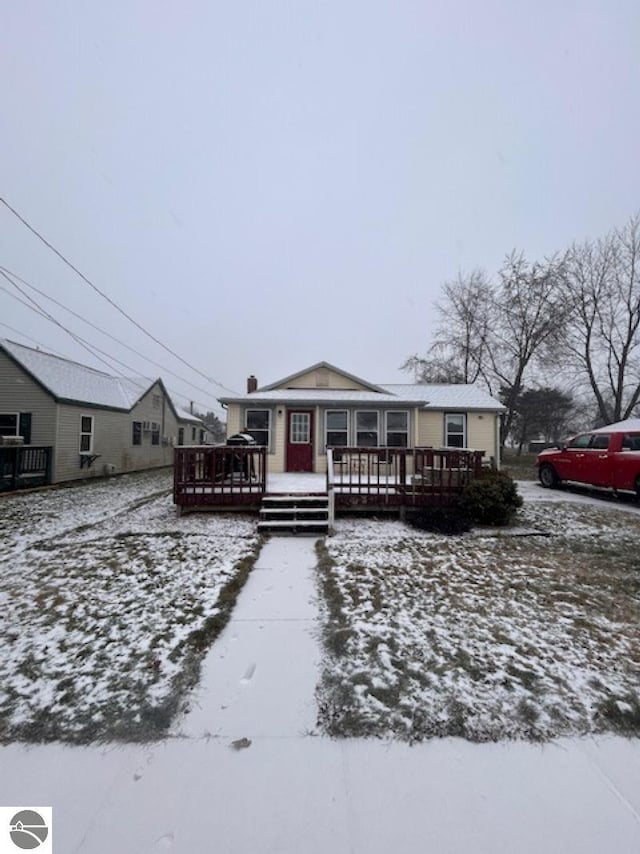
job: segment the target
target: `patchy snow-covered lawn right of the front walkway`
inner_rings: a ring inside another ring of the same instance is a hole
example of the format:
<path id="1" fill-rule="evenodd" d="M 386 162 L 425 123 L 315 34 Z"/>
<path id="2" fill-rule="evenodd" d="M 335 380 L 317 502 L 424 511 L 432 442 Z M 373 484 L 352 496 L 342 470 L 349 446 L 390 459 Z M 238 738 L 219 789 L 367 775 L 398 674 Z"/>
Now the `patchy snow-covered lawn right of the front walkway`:
<path id="1" fill-rule="evenodd" d="M 640 516 L 566 500 L 518 525 L 550 536 L 338 522 L 318 549 L 326 732 L 640 734 Z"/>

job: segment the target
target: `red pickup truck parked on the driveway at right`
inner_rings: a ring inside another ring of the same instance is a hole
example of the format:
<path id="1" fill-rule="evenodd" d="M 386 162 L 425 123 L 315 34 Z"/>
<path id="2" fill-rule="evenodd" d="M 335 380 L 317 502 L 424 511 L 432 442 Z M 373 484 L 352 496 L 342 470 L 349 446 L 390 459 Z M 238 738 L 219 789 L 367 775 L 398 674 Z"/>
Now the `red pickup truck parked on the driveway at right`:
<path id="1" fill-rule="evenodd" d="M 566 445 L 542 451 L 535 465 L 543 486 L 566 480 L 640 497 L 640 419 L 580 433 Z"/>

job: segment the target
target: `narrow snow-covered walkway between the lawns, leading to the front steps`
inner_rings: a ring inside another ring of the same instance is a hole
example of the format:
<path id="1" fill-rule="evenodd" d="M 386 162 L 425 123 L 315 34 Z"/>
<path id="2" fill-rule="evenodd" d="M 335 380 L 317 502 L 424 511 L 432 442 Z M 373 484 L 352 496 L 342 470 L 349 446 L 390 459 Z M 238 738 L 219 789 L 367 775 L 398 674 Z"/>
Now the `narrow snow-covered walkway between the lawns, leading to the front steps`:
<path id="1" fill-rule="evenodd" d="M 262 549 L 233 616 L 205 660 L 189 738 L 291 738 L 315 731 L 319 648 L 316 540 L 287 537 Z"/>

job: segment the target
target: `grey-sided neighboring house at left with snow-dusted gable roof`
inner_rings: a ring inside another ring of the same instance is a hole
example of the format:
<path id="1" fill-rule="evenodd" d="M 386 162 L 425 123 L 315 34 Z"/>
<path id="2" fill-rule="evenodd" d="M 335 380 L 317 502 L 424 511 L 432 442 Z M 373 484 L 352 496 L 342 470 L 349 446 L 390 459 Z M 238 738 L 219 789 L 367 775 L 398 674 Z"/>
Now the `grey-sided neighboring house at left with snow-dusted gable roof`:
<path id="1" fill-rule="evenodd" d="M 50 447 L 51 483 L 171 465 L 172 446 L 204 431 L 161 379 L 114 377 L 0 339 L 0 437 Z"/>

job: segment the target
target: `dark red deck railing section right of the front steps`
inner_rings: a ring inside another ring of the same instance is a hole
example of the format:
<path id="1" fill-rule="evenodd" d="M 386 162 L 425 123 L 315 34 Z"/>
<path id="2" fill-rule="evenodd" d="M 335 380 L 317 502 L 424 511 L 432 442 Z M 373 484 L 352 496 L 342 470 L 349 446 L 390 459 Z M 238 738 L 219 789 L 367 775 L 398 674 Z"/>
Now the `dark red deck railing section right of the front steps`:
<path id="1" fill-rule="evenodd" d="M 330 453 L 329 453 L 330 451 Z M 335 505 L 446 503 L 480 474 L 484 451 L 467 448 L 336 447 L 327 452 Z"/>

